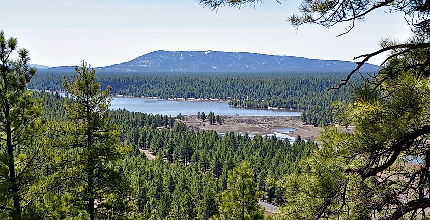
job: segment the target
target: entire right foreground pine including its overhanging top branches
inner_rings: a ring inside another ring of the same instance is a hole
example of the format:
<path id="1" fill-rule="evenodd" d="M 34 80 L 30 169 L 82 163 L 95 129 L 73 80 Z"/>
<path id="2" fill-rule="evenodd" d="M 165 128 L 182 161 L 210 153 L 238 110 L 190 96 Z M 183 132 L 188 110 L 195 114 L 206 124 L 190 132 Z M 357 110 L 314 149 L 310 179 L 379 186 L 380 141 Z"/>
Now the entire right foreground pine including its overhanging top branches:
<path id="1" fill-rule="evenodd" d="M 255 0 L 202 0 L 204 6 L 255 4 Z M 425 219 L 430 210 L 430 1 L 304 1 L 290 17 L 330 27 L 347 22 L 350 32 L 366 14 L 385 9 L 399 12 L 412 37 L 399 43 L 380 41 L 381 49 L 362 58 L 338 87 L 358 73 L 350 102 L 337 102 L 340 125 L 321 134 L 321 149 L 300 164 L 298 173 L 269 183 L 283 189 L 286 205 L 281 219 Z M 389 51 L 380 71 L 365 76 L 359 68 Z M 303 117 L 304 121 L 304 117 Z"/>

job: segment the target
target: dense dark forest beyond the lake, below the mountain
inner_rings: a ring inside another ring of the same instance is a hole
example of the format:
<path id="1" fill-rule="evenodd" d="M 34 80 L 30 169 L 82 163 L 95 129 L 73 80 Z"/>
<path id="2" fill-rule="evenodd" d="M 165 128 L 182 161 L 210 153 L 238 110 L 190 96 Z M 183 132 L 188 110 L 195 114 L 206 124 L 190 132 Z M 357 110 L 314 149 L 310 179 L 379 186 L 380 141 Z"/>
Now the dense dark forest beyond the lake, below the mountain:
<path id="1" fill-rule="evenodd" d="M 40 73 L 29 84 L 33 89 L 62 90 L 61 78 L 70 73 Z M 343 73 L 262 74 L 129 74 L 102 73 L 97 80 L 112 94 L 160 97 L 230 99 L 230 105 L 248 108 L 286 108 L 309 111 L 310 124 L 333 122 L 331 103 L 346 100 L 348 89 L 337 86 Z M 355 79 L 350 82 L 354 83 Z M 313 110 L 312 110 L 313 109 Z M 311 111 L 310 111 L 311 110 Z M 313 122 L 313 117 L 317 117 Z"/>

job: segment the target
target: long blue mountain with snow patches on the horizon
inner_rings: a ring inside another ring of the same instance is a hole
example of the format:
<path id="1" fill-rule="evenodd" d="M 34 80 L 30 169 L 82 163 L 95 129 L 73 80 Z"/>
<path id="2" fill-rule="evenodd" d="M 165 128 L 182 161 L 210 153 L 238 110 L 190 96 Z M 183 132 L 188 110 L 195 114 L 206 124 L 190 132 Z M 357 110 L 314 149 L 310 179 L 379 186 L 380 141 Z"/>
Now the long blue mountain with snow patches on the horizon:
<path id="1" fill-rule="evenodd" d="M 218 51 L 154 51 L 122 64 L 95 68 L 98 72 L 345 72 L 355 62 L 275 56 L 258 53 Z M 360 70 L 372 72 L 376 65 Z M 74 71 L 74 67 L 54 67 L 47 71 Z"/>

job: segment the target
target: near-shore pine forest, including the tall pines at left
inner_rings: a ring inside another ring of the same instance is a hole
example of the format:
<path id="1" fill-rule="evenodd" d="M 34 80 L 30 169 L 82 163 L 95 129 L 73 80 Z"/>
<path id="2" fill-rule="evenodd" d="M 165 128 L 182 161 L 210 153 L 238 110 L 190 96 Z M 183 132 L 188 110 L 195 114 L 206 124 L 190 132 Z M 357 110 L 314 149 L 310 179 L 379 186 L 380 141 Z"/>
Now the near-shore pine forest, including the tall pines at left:
<path id="1" fill-rule="evenodd" d="M 11 38 L 0 51 L 15 45 Z M 28 51 L 18 52 L 15 61 L 0 54 L 2 219 L 264 219 L 257 200 L 283 203 L 265 178 L 293 172 L 317 149 L 300 137 L 293 145 L 221 137 L 168 116 L 110 111 L 111 87 L 101 89 L 83 61 L 63 80 L 67 97 L 31 92 L 36 69 Z M 145 150 L 155 158 L 148 161 Z"/>

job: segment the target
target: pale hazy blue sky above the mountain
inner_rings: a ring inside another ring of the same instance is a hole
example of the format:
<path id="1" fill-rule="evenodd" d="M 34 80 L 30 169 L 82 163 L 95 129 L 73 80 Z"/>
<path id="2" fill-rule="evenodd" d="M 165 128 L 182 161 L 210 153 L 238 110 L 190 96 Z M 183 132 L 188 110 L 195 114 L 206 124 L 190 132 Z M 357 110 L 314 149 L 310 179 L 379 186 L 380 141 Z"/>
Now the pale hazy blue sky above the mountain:
<path id="1" fill-rule="evenodd" d="M 340 37 L 347 24 L 296 29 L 286 19 L 299 0 L 266 0 L 240 10 L 211 11 L 194 0 L 0 0 L 0 30 L 30 50 L 31 62 L 93 67 L 156 50 L 215 50 L 352 61 L 378 50 L 386 37 L 410 35 L 402 14 L 376 11 Z M 380 64 L 385 55 L 371 59 Z"/>

